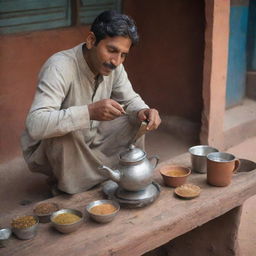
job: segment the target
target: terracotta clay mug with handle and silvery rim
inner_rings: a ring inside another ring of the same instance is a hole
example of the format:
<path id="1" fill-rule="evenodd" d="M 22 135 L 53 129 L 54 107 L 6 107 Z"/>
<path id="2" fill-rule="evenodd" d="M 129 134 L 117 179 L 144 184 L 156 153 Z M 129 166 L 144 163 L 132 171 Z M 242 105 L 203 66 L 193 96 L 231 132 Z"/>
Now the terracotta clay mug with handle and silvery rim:
<path id="1" fill-rule="evenodd" d="M 233 173 L 239 168 L 240 161 L 234 155 L 213 152 L 207 155 L 207 182 L 217 187 L 231 183 Z"/>

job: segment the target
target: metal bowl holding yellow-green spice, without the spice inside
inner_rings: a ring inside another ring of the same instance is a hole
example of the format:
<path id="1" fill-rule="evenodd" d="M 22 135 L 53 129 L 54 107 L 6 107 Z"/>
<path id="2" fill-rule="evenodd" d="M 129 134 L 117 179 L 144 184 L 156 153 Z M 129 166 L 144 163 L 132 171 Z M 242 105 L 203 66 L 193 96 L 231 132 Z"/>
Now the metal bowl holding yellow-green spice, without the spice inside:
<path id="1" fill-rule="evenodd" d="M 56 218 L 57 216 L 59 216 L 60 214 L 63 214 L 63 213 L 72 213 L 72 214 L 80 217 L 80 219 L 78 221 L 70 223 L 70 224 L 60 224 L 60 223 L 55 222 L 54 218 Z M 51 219 L 51 223 L 55 229 L 57 229 L 61 233 L 67 234 L 67 233 L 76 231 L 81 226 L 81 224 L 83 223 L 83 217 L 84 216 L 81 211 L 78 211 L 75 209 L 61 209 L 57 212 L 54 212 L 51 215 L 50 219 Z"/>

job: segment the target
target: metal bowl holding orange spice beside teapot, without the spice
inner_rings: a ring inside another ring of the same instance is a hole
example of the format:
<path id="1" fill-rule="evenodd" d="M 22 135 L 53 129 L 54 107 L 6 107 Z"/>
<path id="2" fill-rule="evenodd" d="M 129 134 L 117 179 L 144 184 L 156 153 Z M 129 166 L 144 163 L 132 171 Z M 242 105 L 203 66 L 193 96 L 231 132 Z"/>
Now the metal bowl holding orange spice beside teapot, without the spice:
<path id="1" fill-rule="evenodd" d="M 110 204 L 112 207 L 115 208 L 115 210 L 111 213 L 107 213 L 107 214 L 96 214 L 95 212 L 92 212 L 92 208 L 95 206 L 100 206 L 100 205 L 104 205 L 104 204 Z M 89 214 L 89 216 L 95 220 L 96 222 L 99 223 L 108 223 L 110 221 L 112 221 L 114 219 L 114 217 L 117 215 L 117 213 L 120 210 L 120 205 L 113 200 L 97 200 L 97 201 L 93 201 L 91 203 L 89 203 L 86 206 L 86 211 Z"/>

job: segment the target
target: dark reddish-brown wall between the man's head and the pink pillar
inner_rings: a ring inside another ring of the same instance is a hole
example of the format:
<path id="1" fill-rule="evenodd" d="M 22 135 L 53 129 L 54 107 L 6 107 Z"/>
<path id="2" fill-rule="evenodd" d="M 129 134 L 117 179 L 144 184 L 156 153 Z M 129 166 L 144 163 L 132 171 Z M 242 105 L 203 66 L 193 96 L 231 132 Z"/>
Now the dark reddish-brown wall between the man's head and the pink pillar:
<path id="1" fill-rule="evenodd" d="M 126 63 L 134 87 L 162 114 L 200 122 L 204 1 L 126 0 L 123 6 L 141 38 Z"/>

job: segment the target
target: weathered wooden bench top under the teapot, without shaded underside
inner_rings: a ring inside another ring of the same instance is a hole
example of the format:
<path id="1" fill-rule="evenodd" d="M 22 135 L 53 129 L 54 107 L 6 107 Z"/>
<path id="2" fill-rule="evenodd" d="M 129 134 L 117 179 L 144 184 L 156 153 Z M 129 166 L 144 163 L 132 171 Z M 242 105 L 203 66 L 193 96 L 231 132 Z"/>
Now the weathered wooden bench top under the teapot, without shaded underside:
<path id="1" fill-rule="evenodd" d="M 188 154 L 162 163 L 161 166 L 167 163 L 190 165 Z M 163 185 L 157 171 L 155 181 Z M 232 184 L 223 188 L 208 185 L 205 174 L 192 173 L 188 183 L 202 188 L 199 197 L 182 200 L 174 196 L 173 188 L 162 186 L 160 196 L 151 205 L 137 209 L 122 208 L 108 224 L 98 224 L 87 219 L 79 230 L 67 235 L 55 231 L 50 223 L 39 224 L 34 239 L 18 240 L 13 236 L 7 247 L 0 249 L 0 255 L 142 255 L 242 205 L 247 198 L 256 194 L 256 170 L 235 174 Z M 102 198 L 104 196 L 98 187 L 46 201 L 58 202 L 63 208 L 84 210 L 89 202 Z M 31 214 L 32 208 L 33 205 L 27 206 L 21 215 Z M 7 225 L 11 218 L 8 216 L 4 220 Z"/>

